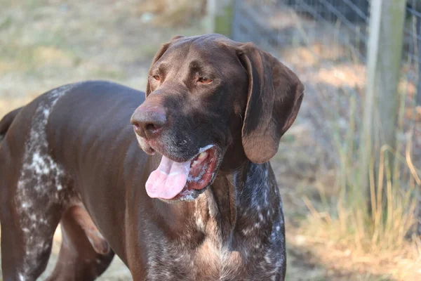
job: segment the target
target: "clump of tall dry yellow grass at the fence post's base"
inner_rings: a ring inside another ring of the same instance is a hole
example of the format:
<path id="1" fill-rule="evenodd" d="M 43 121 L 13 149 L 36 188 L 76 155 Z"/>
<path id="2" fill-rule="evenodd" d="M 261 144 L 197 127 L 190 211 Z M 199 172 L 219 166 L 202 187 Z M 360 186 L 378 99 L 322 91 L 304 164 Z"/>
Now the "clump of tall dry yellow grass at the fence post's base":
<path id="1" fill-rule="evenodd" d="M 339 186 L 337 190 L 340 190 L 336 207 L 325 203 L 316 208 L 305 197 L 310 214 L 298 230 L 302 235 L 296 236 L 293 243 L 298 246 L 312 244 L 312 251 L 324 265 L 334 265 L 342 272 L 361 270 L 394 280 L 420 280 L 421 240 L 416 235 L 408 237 L 408 234 L 413 233 L 411 230 L 417 223 L 415 195 L 421 184 L 421 173 L 412 164 L 409 147 L 410 143 L 405 157 L 394 152 L 397 159 L 406 162 L 409 170 L 406 183 L 403 173 L 388 174 L 389 167 L 380 157 L 379 178 L 386 173 L 387 182 L 375 185 L 371 181 L 372 211 L 364 206 L 368 200 L 359 200 L 365 197 L 355 194 L 361 192 L 358 181 L 355 181 L 359 177 L 358 167 L 349 166 L 354 162 L 342 155 L 343 165 L 342 169 L 339 168 L 336 182 Z M 382 190 L 384 187 L 387 189 L 385 192 Z M 382 200 L 383 194 L 386 200 Z M 385 206 L 382 202 L 386 202 Z"/>

